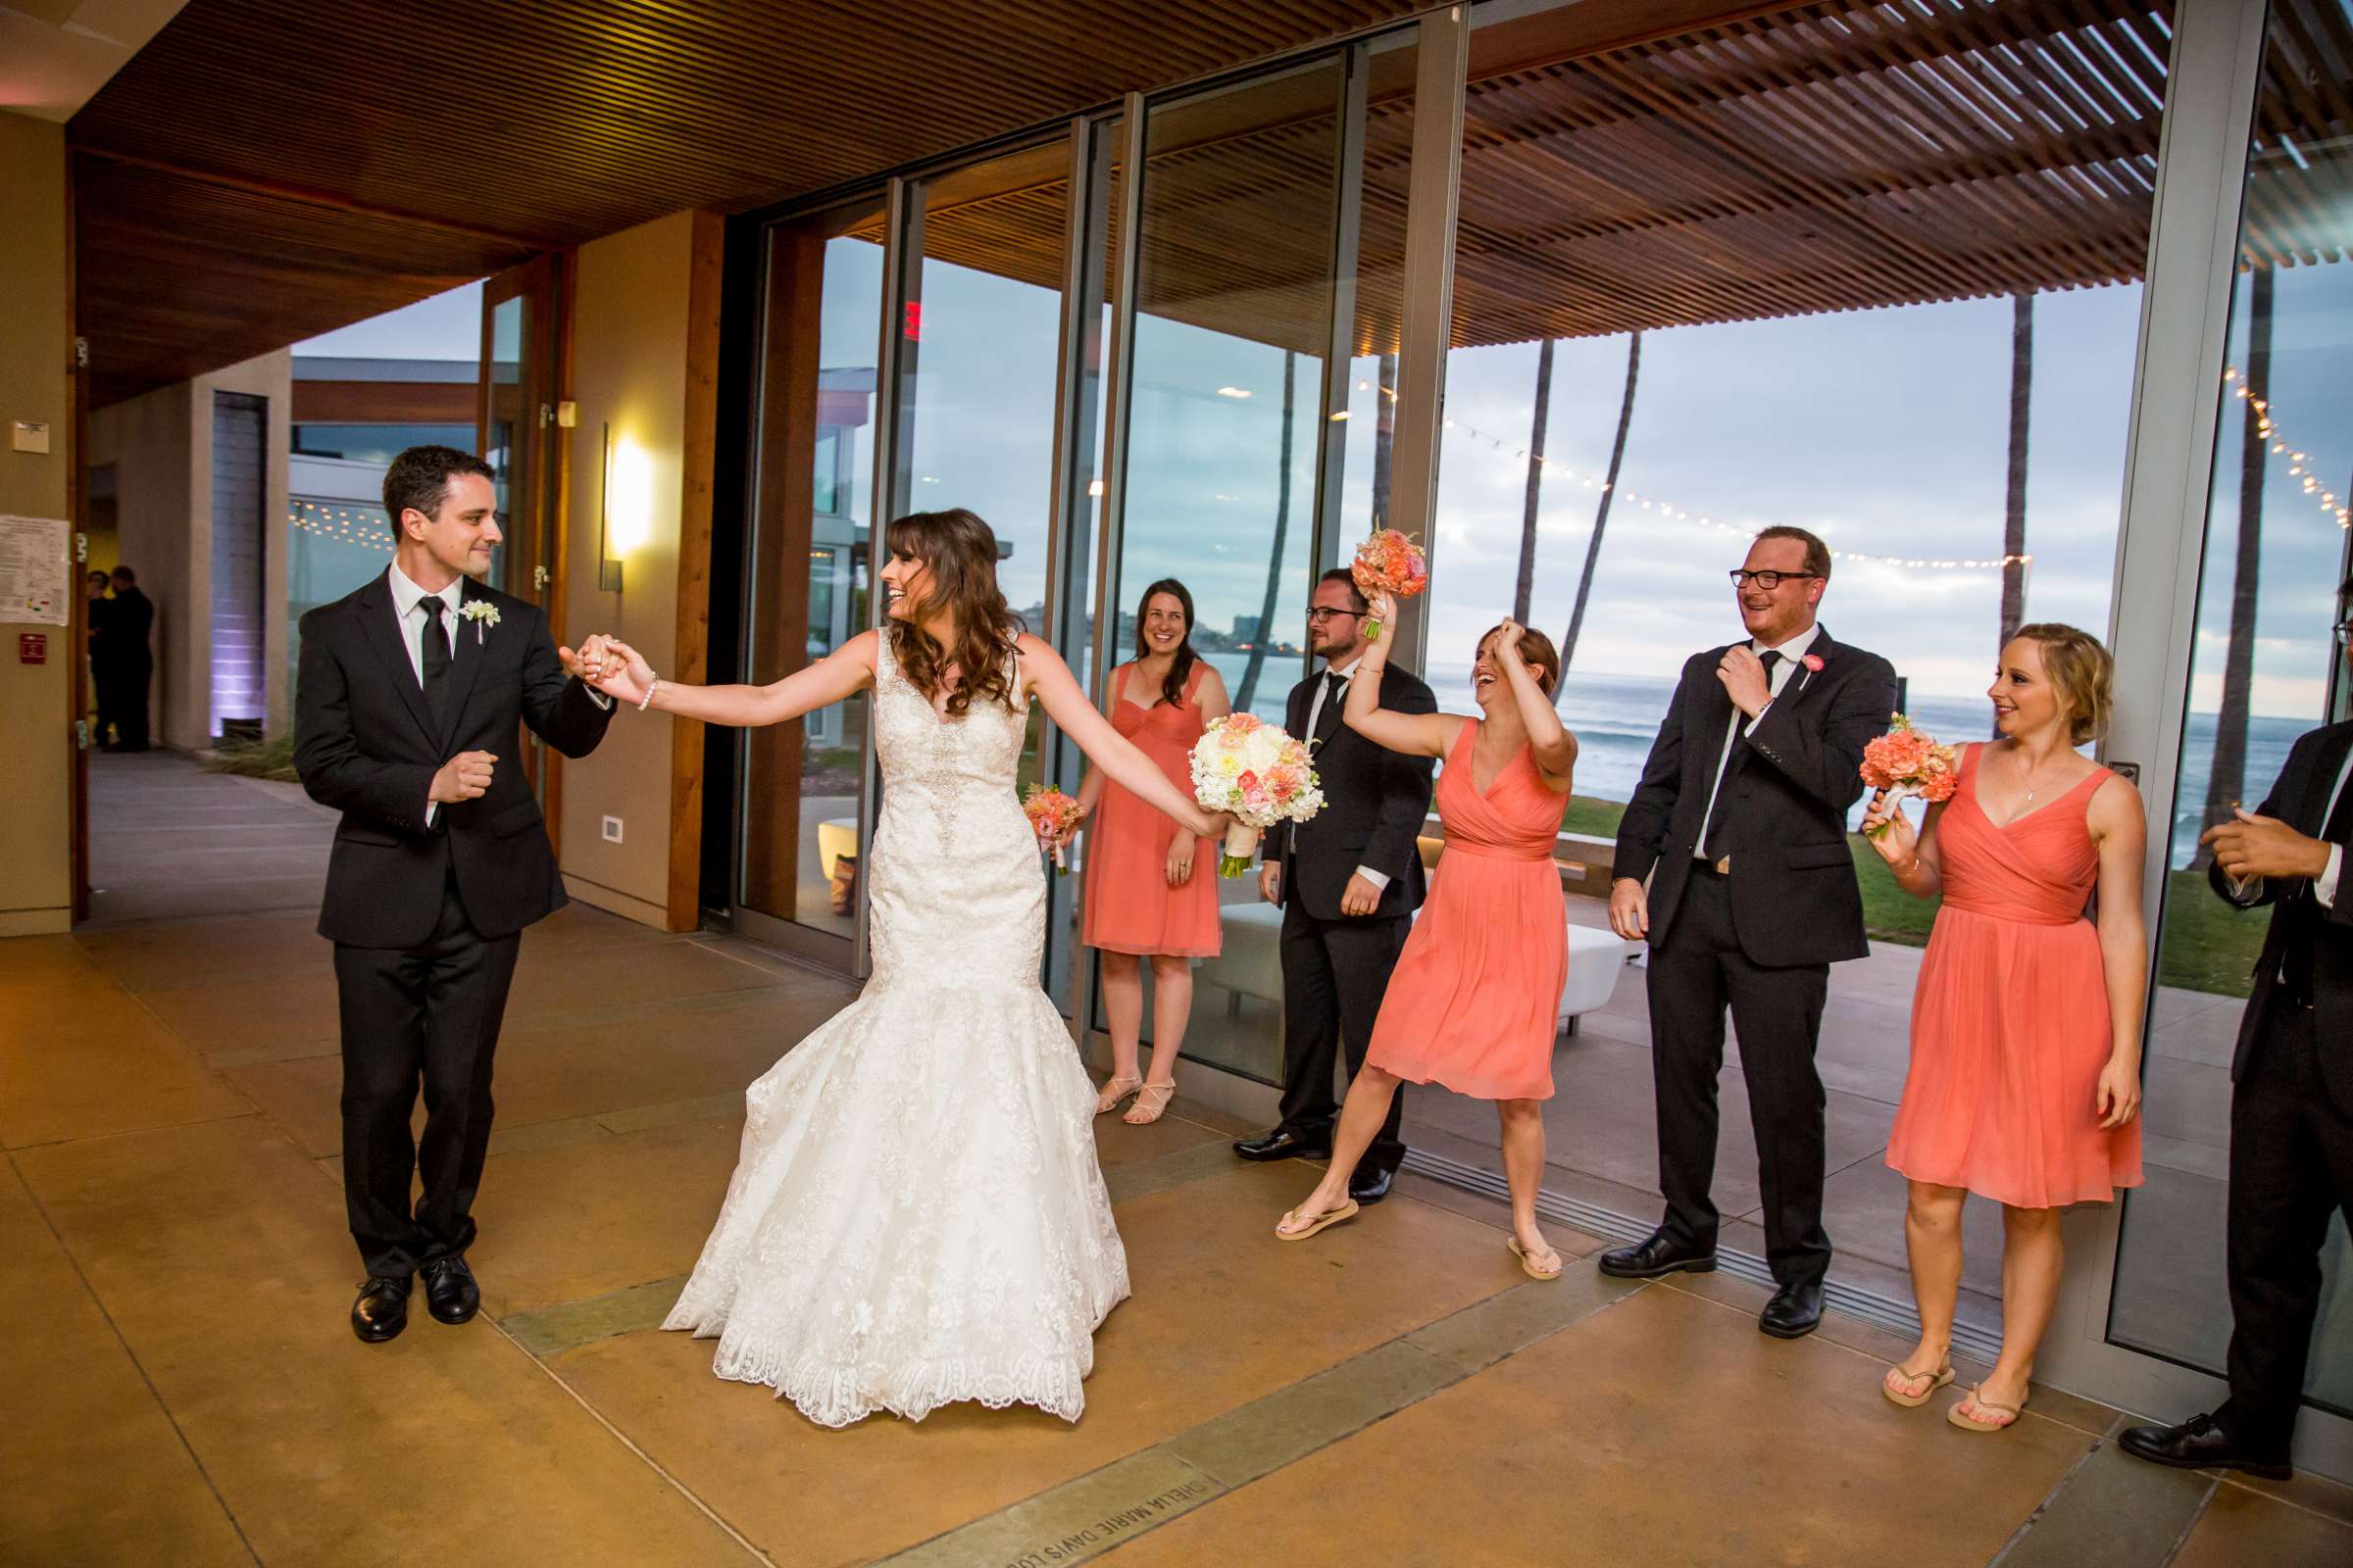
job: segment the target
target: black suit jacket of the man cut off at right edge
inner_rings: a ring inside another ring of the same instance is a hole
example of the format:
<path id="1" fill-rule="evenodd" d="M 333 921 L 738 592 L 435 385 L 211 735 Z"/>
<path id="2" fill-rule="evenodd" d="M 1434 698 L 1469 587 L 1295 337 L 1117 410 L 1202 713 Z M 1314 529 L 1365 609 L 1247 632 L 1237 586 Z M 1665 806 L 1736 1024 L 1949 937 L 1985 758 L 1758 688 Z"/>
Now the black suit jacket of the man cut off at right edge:
<path id="1" fill-rule="evenodd" d="M 2353 722 L 2329 724 L 2297 738 L 2280 769 L 2280 783 L 2271 788 L 2257 816 L 2275 816 L 2297 832 L 2320 837 L 2329 818 L 2329 795 L 2337 771 L 2353 750 Z M 2353 790 L 2353 780 L 2346 783 Z M 2224 903 L 2242 910 L 2271 905 L 2271 931 L 2264 936 L 2264 957 L 2254 961 L 2254 994 L 2247 999 L 2247 1016 L 2238 1025 L 2238 1051 L 2231 1056 L 2231 1081 L 2235 1084 L 2247 1063 L 2254 1060 L 2254 1041 L 2261 1034 L 2264 1009 L 2280 985 L 2280 954 L 2287 943 L 2287 924 L 2299 905 L 2320 914 L 2320 940 L 2313 943 L 2313 1011 L 2320 1037 L 2320 1072 L 2329 1086 L 2337 1110 L 2353 1114 L 2353 865 L 2337 870 L 2337 907 L 2320 910 L 2311 896 L 2311 882 L 2289 877 L 2285 882 L 2264 879 L 2247 898 L 2231 893 L 2231 879 L 2219 863 L 2207 865 L 2207 882 Z"/>

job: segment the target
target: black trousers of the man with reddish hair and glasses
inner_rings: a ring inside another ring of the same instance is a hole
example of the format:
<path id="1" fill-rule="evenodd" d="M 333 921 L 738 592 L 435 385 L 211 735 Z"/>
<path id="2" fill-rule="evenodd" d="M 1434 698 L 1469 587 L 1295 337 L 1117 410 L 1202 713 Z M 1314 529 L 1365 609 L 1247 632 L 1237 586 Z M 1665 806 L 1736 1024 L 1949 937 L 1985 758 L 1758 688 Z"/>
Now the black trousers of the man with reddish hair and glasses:
<path id="1" fill-rule="evenodd" d="M 1824 1093 L 1814 1070 L 1828 964 L 1767 969 L 1732 931 L 1732 884 L 1694 872 L 1666 938 L 1649 952 L 1649 1065 L 1659 1107 L 1659 1190 L 1666 1232 L 1715 1248 L 1715 1074 L 1725 1011 L 1741 1037 L 1748 1121 L 1765 1194 L 1765 1258 L 1784 1286 L 1821 1284 Z"/>

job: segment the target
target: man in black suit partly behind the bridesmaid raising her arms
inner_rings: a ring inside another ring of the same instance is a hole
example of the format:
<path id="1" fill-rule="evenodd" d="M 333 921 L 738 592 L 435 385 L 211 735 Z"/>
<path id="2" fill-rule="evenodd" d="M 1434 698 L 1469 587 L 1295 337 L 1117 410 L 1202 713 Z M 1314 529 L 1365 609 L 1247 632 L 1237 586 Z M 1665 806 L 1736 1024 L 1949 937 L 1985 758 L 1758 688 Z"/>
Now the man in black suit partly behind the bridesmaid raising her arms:
<path id="1" fill-rule="evenodd" d="M 1421 820 L 1431 809 L 1431 757 L 1402 757 L 1341 724 L 1341 703 L 1365 656 L 1365 595 L 1348 571 L 1325 571 L 1308 599 L 1308 646 L 1325 668 L 1292 686 L 1285 729 L 1306 736 L 1325 806 L 1266 835 L 1259 893 L 1282 905 L 1282 1121 L 1233 1145 L 1242 1159 L 1332 1154 L 1339 1041 L 1348 1077 L 1365 1065 L 1388 973 L 1421 907 Z M 1381 708 L 1438 712 L 1407 670 L 1381 675 Z M 1405 1159 L 1400 1091 L 1365 1150 L 1348 1197 L 1377 1204 Z"/>

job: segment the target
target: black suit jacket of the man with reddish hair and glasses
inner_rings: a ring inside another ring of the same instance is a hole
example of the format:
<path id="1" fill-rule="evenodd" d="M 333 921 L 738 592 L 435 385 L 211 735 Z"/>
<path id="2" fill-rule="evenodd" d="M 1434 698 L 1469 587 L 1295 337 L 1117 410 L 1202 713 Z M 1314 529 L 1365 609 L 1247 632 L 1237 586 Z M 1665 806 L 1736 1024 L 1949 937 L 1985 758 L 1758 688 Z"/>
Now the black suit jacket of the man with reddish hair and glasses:
<path id="1" fill-rule="evenodd" d="M 1619 820 L 1617 877 L 1649 877 L 1649 938 L 1664 940 L 1692 879 L 1732 696 L 1715 668 L 1734 644 L 1694 654 Z M 1755 964 L 1859 959 L 1864 893 L 1847 851 L 1847 811 L 1864 795 L 1864 748 L 1887 733 L 1897 672 L 1821 628 L 1812 658 L 1732 743 L 1718 816 L 1732 856 L 1732 924 Z M 1744 722 L 1746 724 L 1746 722 Z"/>

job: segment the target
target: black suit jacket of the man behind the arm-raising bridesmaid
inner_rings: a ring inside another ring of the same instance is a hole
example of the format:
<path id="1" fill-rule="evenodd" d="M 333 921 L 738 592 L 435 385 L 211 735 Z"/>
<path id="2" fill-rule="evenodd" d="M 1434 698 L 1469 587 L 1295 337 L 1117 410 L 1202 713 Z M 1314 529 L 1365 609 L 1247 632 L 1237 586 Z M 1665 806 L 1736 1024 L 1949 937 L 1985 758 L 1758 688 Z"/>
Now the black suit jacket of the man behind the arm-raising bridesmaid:
<path id="1" fill-rule="evenodd" d="M 1306 736 L 1308 708 L 1325 672 L 1292 686 L 1285 729 Z M 1325 698 L 1311 738 L 1315 780 L 1325 804 L 1306 823 L 1278 823 L 1266 832 L 1261 858 L 1282 865 L 1282 903 L 1299 900 L 1315 919 L 1341 919 L 1339 898 L 1358 865 L 1388 877 L 1381 903 L 1365 919 L 1395 919 L 1421 907 L 1421 820 L 1431 811 L 1435 759 L 1407 757 L 1341 724 L 1341 701 Z M 1381 670 L 1381 708 L 1438 712 L 1438 698 L 1409 670 Z"/>

